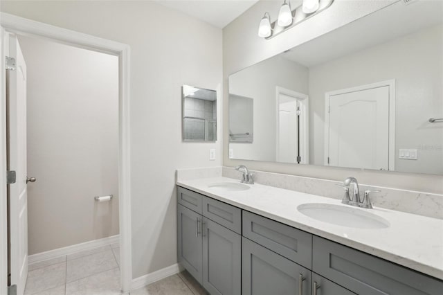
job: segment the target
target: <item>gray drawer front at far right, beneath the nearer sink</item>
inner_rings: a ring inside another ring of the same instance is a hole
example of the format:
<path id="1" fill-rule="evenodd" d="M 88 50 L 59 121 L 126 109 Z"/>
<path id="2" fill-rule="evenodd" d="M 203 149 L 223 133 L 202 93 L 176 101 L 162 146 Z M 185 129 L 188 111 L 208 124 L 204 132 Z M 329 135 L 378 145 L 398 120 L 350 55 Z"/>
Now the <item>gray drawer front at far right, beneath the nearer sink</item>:
<path id="1" fill-rule="evenodd" d="M 312 271 L 357 294 L 441 295 L 443 282 L 314 236 Z"/>

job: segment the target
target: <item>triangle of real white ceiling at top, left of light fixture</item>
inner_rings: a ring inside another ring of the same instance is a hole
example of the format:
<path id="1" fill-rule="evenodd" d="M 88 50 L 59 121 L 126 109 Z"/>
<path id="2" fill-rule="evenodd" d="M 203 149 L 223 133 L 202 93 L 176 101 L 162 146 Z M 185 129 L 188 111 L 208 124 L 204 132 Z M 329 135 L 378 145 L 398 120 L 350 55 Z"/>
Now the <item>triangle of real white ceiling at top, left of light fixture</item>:
<path id="1" fill-rule="evenodd" d="M 224 28 L 258 0 L 155 0 L 163 6 Z"/>

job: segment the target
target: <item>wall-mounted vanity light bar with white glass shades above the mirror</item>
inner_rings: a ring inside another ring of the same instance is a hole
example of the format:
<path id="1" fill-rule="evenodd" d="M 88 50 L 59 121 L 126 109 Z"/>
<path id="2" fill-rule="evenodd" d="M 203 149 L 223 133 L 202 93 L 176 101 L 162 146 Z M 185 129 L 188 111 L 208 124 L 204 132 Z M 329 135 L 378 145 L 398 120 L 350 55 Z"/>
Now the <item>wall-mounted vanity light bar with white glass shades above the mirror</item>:
<path id="1" fill-rule="evenodd" d="M 291 10 L 291 0 L 284 0 L 280 11 L 278 12 L 278 19 L 271 23 L 271 16 L 268 12 L 264 13 L 264 17 L 260 21 L 260 26 L 258 27 L 258 36 L 271 39 L 276 35 L 284 32 L 302 21 L 317 15 L 326 8 L 331 6 L 334 0 L 303 0 L 300 6 Z"/>

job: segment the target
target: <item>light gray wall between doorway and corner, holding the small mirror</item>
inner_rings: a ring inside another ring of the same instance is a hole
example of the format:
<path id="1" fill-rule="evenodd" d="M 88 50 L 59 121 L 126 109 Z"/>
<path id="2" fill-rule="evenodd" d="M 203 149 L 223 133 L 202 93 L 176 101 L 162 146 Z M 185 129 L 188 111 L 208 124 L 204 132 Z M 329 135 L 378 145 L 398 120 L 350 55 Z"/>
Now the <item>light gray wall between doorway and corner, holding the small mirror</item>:
<path id="1" fill-rule="evenodd" d="M 1 1 L 0 10 L 131 46 L 132 275 L 177 263 L 175 170 L 221 165 L 222 146 L 181 141 L 181 85 L 221 93 L 221 29 L 154 1 Z"/>

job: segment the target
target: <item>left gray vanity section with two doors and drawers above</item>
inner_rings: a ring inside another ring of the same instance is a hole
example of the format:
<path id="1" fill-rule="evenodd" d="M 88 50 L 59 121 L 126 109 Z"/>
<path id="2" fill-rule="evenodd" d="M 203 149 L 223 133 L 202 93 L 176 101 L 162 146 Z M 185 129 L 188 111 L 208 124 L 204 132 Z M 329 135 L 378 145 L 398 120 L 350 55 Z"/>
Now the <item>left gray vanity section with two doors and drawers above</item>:
<path id="1" fill-rule="evenodd" d="M 180 187 L 177 202 L 181 265 L 210 294 L 242 294 L 242 211 Z"/>

